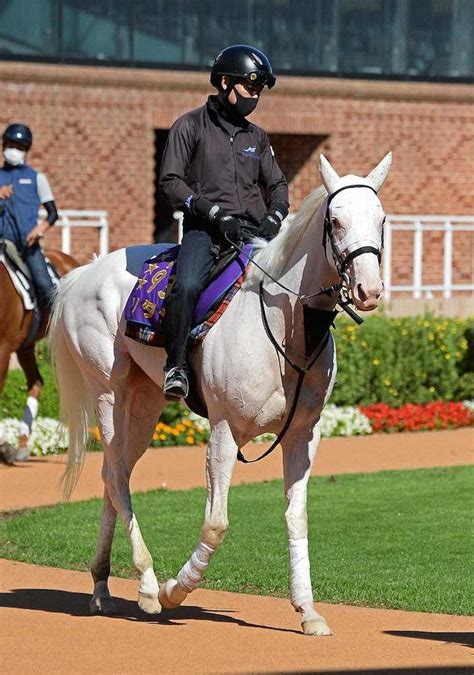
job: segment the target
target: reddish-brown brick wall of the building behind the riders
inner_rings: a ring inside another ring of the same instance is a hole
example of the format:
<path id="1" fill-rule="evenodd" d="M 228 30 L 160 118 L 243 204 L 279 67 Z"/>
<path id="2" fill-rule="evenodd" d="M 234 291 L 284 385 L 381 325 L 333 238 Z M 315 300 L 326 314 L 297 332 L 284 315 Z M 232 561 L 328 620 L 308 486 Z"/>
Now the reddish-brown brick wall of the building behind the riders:
<path id="1" fill-rule="evenodd" d="M 152 237 L 155 129 L 209 92 L 206 73 L 0 62 L 0 126 L 31 126 L 31 164 L 47 172 L 59 208 L 106 209 L 117 248 Z M 392 150 L 381 194 L 387 212 L 469 215 L 472 100 L 468 85 L 281 77 L 252 119 L 271 136 L 293 211 L 320 183 L 320 152 L 339 174 L 365 175 Z M 411 274 L 412 243 L 401 238 L 395 283 Z M 48 239 L 57 244 L 58 234 Z M 425 280 L 435 280 L 442 242 L 429 240 Z M 454 246 L 453 280 L 471 282 L 472 245 L 456 235 Z M 73 254 L 84 260 L 93 250 L 96 233 L 74 233 Z"/>

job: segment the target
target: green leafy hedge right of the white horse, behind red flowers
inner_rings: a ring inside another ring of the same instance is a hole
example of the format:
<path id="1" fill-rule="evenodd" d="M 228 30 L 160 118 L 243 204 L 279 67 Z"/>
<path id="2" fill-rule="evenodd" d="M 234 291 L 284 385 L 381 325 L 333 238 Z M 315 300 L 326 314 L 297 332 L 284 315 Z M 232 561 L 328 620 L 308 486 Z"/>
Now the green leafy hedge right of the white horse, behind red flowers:
<path id="1" fill-rule="evenodd" d="M 357 327 L 339 317 L 334 332 L 337 405 L 429 403 L 470 398 L 460 375 L 472 367 L 466 334 L 472 322 L 460 319 L 376 315 Z"/>

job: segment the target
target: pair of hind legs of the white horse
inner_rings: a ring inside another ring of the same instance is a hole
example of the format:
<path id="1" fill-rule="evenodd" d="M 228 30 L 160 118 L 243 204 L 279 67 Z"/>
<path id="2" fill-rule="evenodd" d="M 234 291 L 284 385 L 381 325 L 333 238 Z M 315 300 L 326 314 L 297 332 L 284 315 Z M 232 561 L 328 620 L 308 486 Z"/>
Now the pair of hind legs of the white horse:
<path id="1" fill-rule="evenodd" d="M 153 560 L 133 512 L 129 481 L 133 467 L 148 447 L 162 407 L 161 390 L 133 364 L 129 375 L 120 384 L 116 383 L 115 393 L 108 391 L 98 397 L 96 410 L 104 447 L 102 477 L 110 506 L 104 502 L 101 536 L 93 563 L 93 609 L 97 607 L 96 593 L 100 604 L 102 599 L 109 597 L 107 576 L 114 509 L 123 520 L 132 548 L 133 563 L 140 574 L 138 604 L 147 613 L 161 610 Z"/>

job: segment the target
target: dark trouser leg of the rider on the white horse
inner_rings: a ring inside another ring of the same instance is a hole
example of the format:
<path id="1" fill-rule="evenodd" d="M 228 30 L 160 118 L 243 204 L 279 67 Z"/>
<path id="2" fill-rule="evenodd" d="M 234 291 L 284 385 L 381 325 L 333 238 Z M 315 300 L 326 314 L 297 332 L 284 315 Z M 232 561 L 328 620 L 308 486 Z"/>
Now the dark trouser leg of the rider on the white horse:
<path id="1" fill-rule="evenodd" d="M 187 232 L 177 260 L 177 281 L 166 305 L 167 368 L 186 367 L 187 340 L 194 309 L 212 269 L 213 241 L 202 230 Z"/>

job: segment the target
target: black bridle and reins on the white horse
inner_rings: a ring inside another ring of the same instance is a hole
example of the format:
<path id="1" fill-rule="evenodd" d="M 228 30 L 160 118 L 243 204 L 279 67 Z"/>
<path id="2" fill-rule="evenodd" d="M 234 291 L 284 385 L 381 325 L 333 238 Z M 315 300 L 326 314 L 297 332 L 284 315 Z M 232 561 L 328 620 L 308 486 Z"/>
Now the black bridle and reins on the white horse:
<path id="1" fill-rule="evenodd" d="M 290 288 L 285 286 L 285 284 L 282 284 L 281 281 L 278 281 L 278 279 L 275 279 L 271 274 L 269 274 L 266 270 L 264 270 L 263 267 L 261 267 L 258 263 L 255 262 L 255 260 L 253 260 L 253 258 L 249 259 L 249 262 L 251 262 L 253 265 L 255 265 L 255 267 L 257 267 L 261 272 L 263 272 L 274 283 L 276 283 L 278 286 L 280 286 L 280 288 L 283 288 L 288 293 L 291 293 L 292 295 L 295 295 L 297 297 L 297 299 L 299 300 L 299 302 L 301 302 L 301 304 L 303 304 L 303 305 L 306 304 L 310 298 L 314 298 L 318 295 L 331 296 L 334 292 L 339 291 L 337 303 L 340 305 L 340 307 L 342 307 L 342 309 L 347 314 L 349 314 L 349 316 L 352 319 L 354 319 L 354 321 L 357 324 L 361 324 L 363 322 L 363 319 L 356 312 L 354 312 L 353 309 L 351 309 L 349 307 L 349 304 L 352 301 L 349 297 L 349 293 L 348 293 L 348 290 L 347 290 L 347 286 L 349 284 L 349 277 L 347 275 L 346 269 L 355 258 L 357 258 L 359 255 L 363 255 L 364 253 L 373 253 L 374 255 L 377 256 L 377 258 L 379 260 L 379 263 L 380 263 L 382 253 L 381 253 L 381 249 L 377 249 L 374 246 L 361 246 L 361 247 L 355 249 L 354 251 L 351 251 L 351 253 L 349 253 L 345 257 L 343 257 L 337 251 L 337 248 L 335 246 L 334 237 L 333 237 L 332 228 L 331 228 L 331 219 L 330 219 L 330 216 L 329 216 L 329 206 L 330 206 L 332 200 L 334 199 L 334 197 L 336 195 L 338 195 L 340 192 L 342 192 L 343 190 L 348 190 L 350 188 L 360 188 L 360 187 L 368 188 L 369 190 L 372 190 L 372 192 L 377 194 L 377 190 L 375 190 L 370 185 L 363 185 L 363 184 L 346 185 L 345 187 L 339 188 L 339 190 L 336 190 L 331 195 L 329 195 L 328 200 L 327 200 L 326 215 L 325 215 L 325 218 L 324 218 L 324 226 L 323 226 L 324 253 L 325 253 L 326 258 L 327 258 L 326 242 L 329 239 L 329 241 L 331 243 L 331 252 L 332 252 L 332 255 L 333 255 L 333 260 L 334 260 L 334 263 L 336 265 L 336 269 L 337 269 L 337 272 L 339 274 L 339 277 L 340 277 L 341 281 L 339 281 L 335 284 L 332 284 L 331 286 L 328 286 L 327 288 L 321 287 L 319 289 L 319 291 L 316 291 L 315 293 L 312 293 L 310 295 L 304 295 L 304 294 L 300 294 L 300 293 L 296 293 L 295 291 L 292 291 Z M 242 247 L 240 247 L 238 244 L 233 242 L 227 236 L 225 238 L 227 239 L 227 241 L 229 242 L 229 244 L 233 248 L 242 252 Z M 382 239 L 382 248 L 383 248 L 383 239 Z M 332 325 L 332 320 L 333 320 L 335 314 L 337 313 L 337 312 L 331 313 L 330 322 L 329 322 L 328 328 L 327 328 L 327 330 L 324 334 L 323 339 L 321 340 L 319 345 L 316 347 L 315 352 L 313 352 L 314 355 L 310 355 L 308 357 L 310 359 L 309 364 L 306 367 L 301 367 L 297 363 L 292 361 L 287 356 L 287 354 L 280 347 L 280 345 L 278 344 L 275 336 L 273 335 L 273 333 L 271 331 L 271 328 L 270 328 L 270 324 L 268 323 L 267 315 L 265 313 L 265 303 L 264 303 L 264 300 L 263 300 L 263 291 L 264 291 L 263 281 L 261 281 L 260 285 L 259 285 L 259 299 L 260 299 L 260 311 L 261 311 L 261 314 L 262 314 L 262 321 L 263 321 L 263 325 L 264 325 L 264 328 L 265 328 L 265 332 L 267 333 L 267 336 L 268 336 L 270 342 L 275 347 L 277 352 L 279 354 L 281 354 L 281 356 L 283 356 L 283 358 L 291 366 L 291 368 L 293 368 L 293 370 L 295 370 L 298 373 L 298 382 L 296 383 L 295 394 L 293 396 L 293 402 L 291 404 L 290 412 L 288 413 L 288 417 L 286 419 L 286 422 L 285 422 L 282 430 L 280 431 L 280 433 L 278 434 L 276 439 L 273 441 L 271 446 L 267 450 L 265 450 L 265 452 L 263 454 L 261 454 L 259 457 L 257 457 L 256 459 L 246 459 L 244 457 L 244 455 L 242 454 L 240 448 L 239 448 L 239 450 L 237 452 L 237 459 L 240 462 L 243 462 L 244 464 L 253 464 L 254 462 L 258 462 L 259 460 L 263 459 L 264 457 L 267 457 L 267 455 L 269 455 L 271 452 L 273 452 L 273 450 L 277 447 L 277 445 L 279 445 L 279 443 L 282 441 L 283 437 L 285 436 L 286 432 L 288 431 L 288 428 L 289 428 L 291 422 L 293 421 L 293 417 L 295 416 L 295 412 L 296 412 L 296 408 L 298 406 L 298 401 L 299 401 L 299 397 L 300 397 L 300 394 L 301 394 L 301 389 L 302 389 L 302 386 L 303 386 L 303 381 L 304 381 L 305 375 L 311 370 L 311 368 L 314 366 L 314 364 L 316 363 L 316 361 L 318 360 L 318 358 L 321 356 L 324 349 L 326 348 L 326 345 L 329 342 L 330 328 L 331 328 L 331 325 Z"/>

